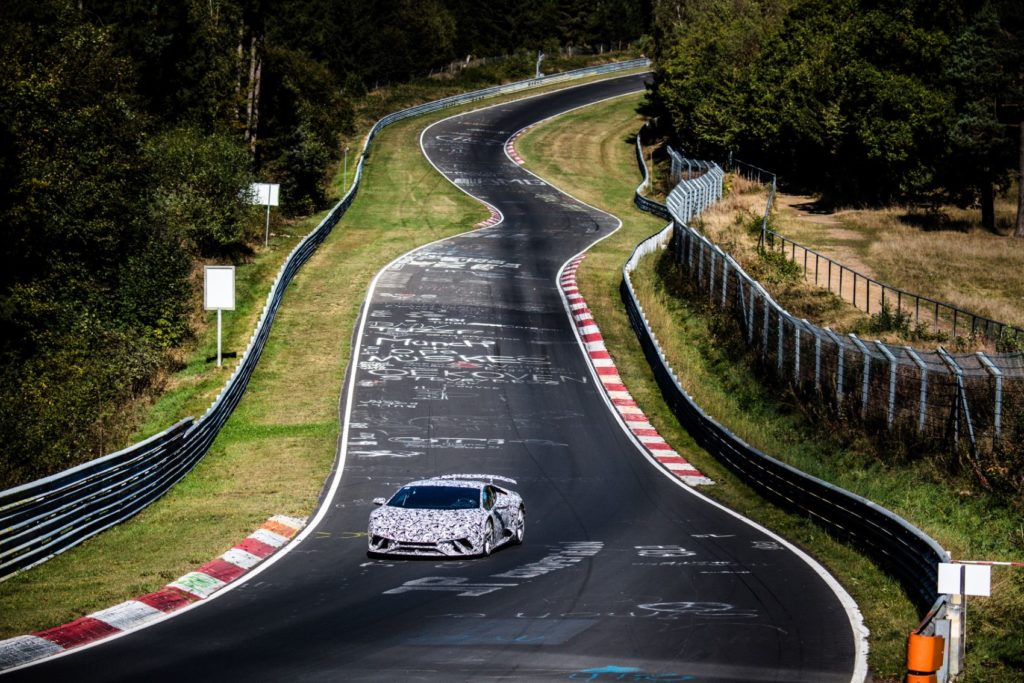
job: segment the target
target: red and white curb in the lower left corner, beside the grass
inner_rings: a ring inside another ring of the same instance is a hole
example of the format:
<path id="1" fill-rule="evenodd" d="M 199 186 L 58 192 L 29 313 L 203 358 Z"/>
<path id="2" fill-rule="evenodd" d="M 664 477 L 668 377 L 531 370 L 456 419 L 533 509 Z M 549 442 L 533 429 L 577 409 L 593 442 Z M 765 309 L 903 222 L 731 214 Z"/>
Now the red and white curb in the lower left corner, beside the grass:
<path id="1" fill-rule="evenodd" d="M 127 600 L 62 626 L 0 640 L 0 671 L 131 631 L 210 597 L 291 540 L 304 519 L 275 515 L 215 560 L 189 571 L 156 593 Z"/>

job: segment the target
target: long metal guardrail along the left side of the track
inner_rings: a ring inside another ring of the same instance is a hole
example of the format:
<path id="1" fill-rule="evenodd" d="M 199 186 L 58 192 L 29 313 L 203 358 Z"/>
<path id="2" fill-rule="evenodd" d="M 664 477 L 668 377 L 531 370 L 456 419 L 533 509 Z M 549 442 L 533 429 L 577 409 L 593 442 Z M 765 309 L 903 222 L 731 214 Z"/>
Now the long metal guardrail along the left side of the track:
<path id="1" fill-rule="evenodd" d="M 649 65 L 648 59 L 633 59 L 493 86 L 395 112 L 374 124 L 364 141 L 351 187 L 285 260 L 248 347 L 203 417 L 195 421 L 186 418 L 123 451 L 0 492 L 0 581 L 45 562 L 133 516 L 167 493 L 206 455 L 245 393 L 286 288 L 351 205 L 362 178 L 367 151 L 382 128 L 402 119 L 494 95 Z"/>

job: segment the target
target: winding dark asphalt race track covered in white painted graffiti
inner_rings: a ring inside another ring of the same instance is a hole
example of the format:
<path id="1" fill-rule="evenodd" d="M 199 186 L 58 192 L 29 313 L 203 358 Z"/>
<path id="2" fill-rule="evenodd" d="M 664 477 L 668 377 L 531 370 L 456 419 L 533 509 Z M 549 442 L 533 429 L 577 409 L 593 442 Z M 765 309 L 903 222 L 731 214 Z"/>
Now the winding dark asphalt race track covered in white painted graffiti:
<path id="1" fill-rule="evenodd" d="M 323 518 L 208 604 L 9 680 L 862 677 L 859 617 L 822 572 L 652 465 L 609 411 L 556 279 L 618 222 L 505 156 L 527 124 L 641 88 L 623 77 L 424 131 L 438 169 L 505 219 L 379 275 Z M 469 561 L 368 558 L 371 500 L 449 472 L 518 479 L 525 543 Z"/>

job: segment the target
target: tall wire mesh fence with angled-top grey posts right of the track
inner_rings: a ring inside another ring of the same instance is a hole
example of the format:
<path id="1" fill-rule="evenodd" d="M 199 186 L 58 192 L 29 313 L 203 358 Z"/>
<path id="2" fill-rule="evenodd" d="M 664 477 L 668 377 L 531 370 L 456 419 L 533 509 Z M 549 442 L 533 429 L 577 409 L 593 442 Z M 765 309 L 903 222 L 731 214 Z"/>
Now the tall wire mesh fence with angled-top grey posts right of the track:
<path id="1" fill-rule="evenodd" d="M 1024 354 L 913 349 L 839 334 L 797 318 L 742 266 L 687 224 L 690 198 L 721 182 L 708 172 L 668 198 L 674 259 L 691 284 L 741 329 L 762 367 L 839 414 L 909 442 L 997 451 L 1024 432 Z M 712 190 L 714 194 L 716 190 Z M 721 194 L 721 187 L 717 190 Z"/>

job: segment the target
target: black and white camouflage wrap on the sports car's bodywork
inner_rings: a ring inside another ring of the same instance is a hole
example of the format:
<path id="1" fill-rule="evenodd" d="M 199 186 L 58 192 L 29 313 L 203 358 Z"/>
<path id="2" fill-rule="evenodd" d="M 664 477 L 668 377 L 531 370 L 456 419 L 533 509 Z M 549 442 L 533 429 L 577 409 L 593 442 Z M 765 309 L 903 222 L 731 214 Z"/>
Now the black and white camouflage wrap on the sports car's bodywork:
<path id="1" fill-rule="evenodd" d="M 465 510 L 410 509 L 385 504 L 370 513 L 367 535 L 371 555 L 465 557 L 486 555 L 506 544 L 522 542 L 526 520 L 522 497 L 514 490 L 489 481 L 451 477 L 413 481 L 408 485 L 456 485 L 476 492 L 489 485 L 498 496 L 490 510 L 484 509 L 483 496 L 478 496 L 481 500 L 478 507 Z M 486 544 L 488 521 L 489 545 Z"/>

